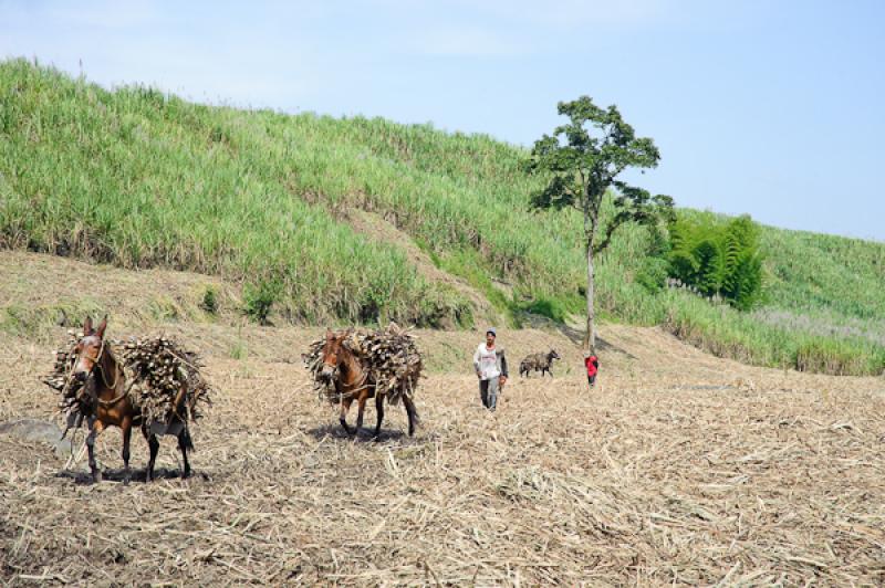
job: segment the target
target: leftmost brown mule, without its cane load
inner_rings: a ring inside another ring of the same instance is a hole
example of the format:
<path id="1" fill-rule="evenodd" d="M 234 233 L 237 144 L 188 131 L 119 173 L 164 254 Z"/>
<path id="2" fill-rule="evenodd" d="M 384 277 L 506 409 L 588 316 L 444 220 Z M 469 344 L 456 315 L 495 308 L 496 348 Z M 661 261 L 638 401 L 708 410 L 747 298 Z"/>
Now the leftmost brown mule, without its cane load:
<path id="1" fill-rule="evenodd" d="M 97 329 L 92 328 L 92 318 L 86 317 L 83 323 L 83 337 L 77 342 L 75 354 L 76 363 L 73 368 L 73 377 L 82 382 L 86 390 L 91 392 L 91 403 L 94 410 L 87 417 L 90 433 L 86 437 L 86 448 L 90 454 L 90 470 L 92 470 L 93 482 L 102 481 L 102 473 L 95 464 L 95 439 L 108 426 L 119 427 L 123 431 L 123 483 L 128 484 L 132 480 L 129 471 L 129 439 L 132 438 L 133 426 L 140 424 L 142 432 L 147 440 L 150 449 L 150 459 L 147 462 L 145 481 L 154 479 L 154 463 L 159 451 L 157 435 L 143 424 L 140 411 L 133 406 L 126 388 L 126 374 L 123 366 L 114 356 L 108 345 L 105 345 L 104 332 L 107 328 L 107 317 L 98 324 Z M 185 398 L 185 388 L 179 391 L 176 405 L 180 405 Z M 187 427 L 183 427 L 178 433 L 178 448 L 181 450 L 181 458 L 185 463 L 183 477 L 190 475 L 190 463 L 187 459 L 187 450 L 194 449 Z"/>

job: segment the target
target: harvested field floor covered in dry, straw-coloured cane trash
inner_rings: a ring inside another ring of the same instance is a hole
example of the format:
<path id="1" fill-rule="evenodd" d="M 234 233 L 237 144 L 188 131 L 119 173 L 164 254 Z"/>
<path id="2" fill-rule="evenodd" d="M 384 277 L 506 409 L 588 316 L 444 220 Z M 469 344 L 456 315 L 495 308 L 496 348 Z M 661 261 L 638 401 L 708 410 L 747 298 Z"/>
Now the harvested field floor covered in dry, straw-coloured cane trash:
<path id="1" fill-rule="evenodd" d="M 117 273 L 104 282 L 122 295 Z M 152 275 L 160 292 L 179 280 Z M 66 287 L 33 296 L 51 305 L 74 295 Z M 132 300 L 153 300 L 145 292 Z M 124 325 L 112 316 L 112 336 L 138 328 L 138 308 L 107 301 Z M 405 437 L 405 411 L 391 407 L 379 440 L 352 440 L 300 365 L 319 329 L 143 328 L 205 351 L 219 388 L 192 431 L 194 477 L 177 477 L 165 439 L 160 480 L 143 483 L 147 448 L 134 437 L 136 479 L 124 486 L 112 430 L 98 442 L 106 481 L 91 485 L 85 460 L 64 470 L 50 443 L 0 426 L 3 582 L 885 584 L 882 378 L 747 368 L 658 329 L 610 325 L 587 391 L 569 338 L 503 330 L 513 374 L 489 413 L 469 366 L 480 335 L 418 332 L 433 368 L 417 392 L 423 427 Z M 39 378 L 63 339 L 62 327 L 4 335 L 0 423 L 54 418 Z M 551 345 L 564 357 L 556 377 L 520 379 L 522 355 Z"/>

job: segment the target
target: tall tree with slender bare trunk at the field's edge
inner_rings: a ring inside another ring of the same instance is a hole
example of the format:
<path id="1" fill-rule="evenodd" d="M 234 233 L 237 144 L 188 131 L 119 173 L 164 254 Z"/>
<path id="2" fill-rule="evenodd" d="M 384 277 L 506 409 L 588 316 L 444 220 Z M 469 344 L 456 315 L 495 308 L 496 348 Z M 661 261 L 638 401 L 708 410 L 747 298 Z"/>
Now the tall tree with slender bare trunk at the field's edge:
<path id="1" fill-rule="evenodd" d="M 584 348 L 595 347 L 593 330 L 593 260 L 626 222 L 653 224 L 673 214 L 673 199 L 618 180 L 628 168 L 654 168 L 660 154 L 654 141 L 637 137 L 621 117 L 617 107 L 601 108 L 589 96 L 561 102 L 559 114 L 569 123 L 534 143 L 529 171 L 545 174 L 546 186 L 531 196 L 535 209 L 575 208 L 584 217 L 584 245 L 587 259 L 587 333 Z M 615 213 L 602 228 L 600 210 L 608 189 L 614 191 Z"/>

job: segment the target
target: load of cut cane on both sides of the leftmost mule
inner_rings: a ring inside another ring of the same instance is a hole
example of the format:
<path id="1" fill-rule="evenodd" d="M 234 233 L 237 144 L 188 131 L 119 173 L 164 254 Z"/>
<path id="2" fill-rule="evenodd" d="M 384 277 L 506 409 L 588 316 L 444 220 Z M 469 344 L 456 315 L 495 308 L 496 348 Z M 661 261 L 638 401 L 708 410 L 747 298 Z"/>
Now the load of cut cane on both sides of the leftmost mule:
<path id="1" fill-rule="evenodd" d="M 83 417 L 94 412 L 96 401 L 90 393 L 92 378 L 83 384 L 72 377 L 77 337 L 73 332 L 69 332 L 69 336 L 66 346 L 55 353 L 52 374 L 43 381 L 61 393 L 59 406 L 67 416 L 69 426 L 79 426 Z M 166 424 L 173 417 L 196 420 L 201 417 L 200 405 L 211 402 L 212 388 L 200 372 L 202 364 L 196 353 L 166 337 L 108 342 L 106 351 L 111 351 L 112 346 L 119 349 L 126 375 L 125 393 L 140 411 L 147 427 Z M 179 393 L 184 393 L 184 398 L 176 407 Z"/>

